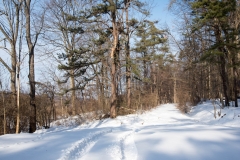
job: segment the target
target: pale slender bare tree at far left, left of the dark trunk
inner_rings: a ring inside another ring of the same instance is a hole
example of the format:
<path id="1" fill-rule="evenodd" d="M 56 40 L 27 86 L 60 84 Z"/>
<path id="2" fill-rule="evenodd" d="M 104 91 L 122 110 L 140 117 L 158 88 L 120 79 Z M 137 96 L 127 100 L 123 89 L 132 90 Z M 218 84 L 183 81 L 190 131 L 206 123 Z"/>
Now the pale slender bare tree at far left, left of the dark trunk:
<path id="1" fill-rule="evenodd" d="M 0 46 L 11 56 L 11 67 L 0 57 L 0 62 L 9 71 L 11 77 L 11 92 L 13 106 L 18 106 L 16 133 L 19 132 L 19 103 L 16 95 L 16 73 L 20 71 L 20 61 L 17 60 L 17 41 L 19 35 L 20 13 L 22 9 L 21 0 L 3 0 L 0 8 L 0 32 L 4 35 L 4 46 Z M 10 44 L 10 49 L 6 46 Z M 18 69 L 17 69 L 18 68 Z M 17 77 L 19 80 L 19 76 Z M 19 86 L 19 84 L 18 84 Z"/>

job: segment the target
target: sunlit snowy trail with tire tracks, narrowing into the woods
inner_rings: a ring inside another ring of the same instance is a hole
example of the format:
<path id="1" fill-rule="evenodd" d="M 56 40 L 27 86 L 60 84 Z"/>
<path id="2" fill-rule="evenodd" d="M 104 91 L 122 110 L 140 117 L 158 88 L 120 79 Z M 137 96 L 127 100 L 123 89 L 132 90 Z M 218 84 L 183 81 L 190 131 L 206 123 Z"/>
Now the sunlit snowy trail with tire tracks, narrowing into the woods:
<path id="1" fill-rule="evenodd" d="M 145 160 L 159 157 L 180 160 L 199 159 L 196 157 L 214 159 L 210 153 L 218 153 L 216 147 L 213 146 L 208 150 L 209 153 L 206 151 L 204 154 L 205 148 L 202 145 L 211 146 L 209 143 L 214 144 L 218 139 L 223 140 L 221 143 L 224 144 L 225 140 L 235 138 L 229 135 L 231 130 L 223 132 L 225 128 L 220 126 L 198 123 L 195 119 L 181 114 L 173 105 L 165 105 L 140 116 L 126 117 L 92 124 L 95 126 L 91 128 L 92 130 L 111 126 L 113 128 L 111 132 L 101 134 L 95 140 L 94 136 L 89 136 L 88 140 L 76 142 L 78 144 L 73 145 L 73 149 L 65 150 L 70 153 L 62 159 L 98 160 L 99 157 L 102 160 Z M 201 143 L 198 142 L 203 139 Z M 200 153 L 201 156 L 198 155 Z"/>

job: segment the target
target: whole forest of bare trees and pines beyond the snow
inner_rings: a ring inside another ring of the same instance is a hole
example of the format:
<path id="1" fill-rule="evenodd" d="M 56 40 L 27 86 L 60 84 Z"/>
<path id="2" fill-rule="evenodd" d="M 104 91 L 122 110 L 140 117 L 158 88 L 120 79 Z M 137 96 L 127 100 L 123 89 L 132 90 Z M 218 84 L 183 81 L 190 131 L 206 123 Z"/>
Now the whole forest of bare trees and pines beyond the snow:
<path id="1" fill-rule="evenodd" d="M 154 3 L 1 0 L 0 135 L 166 103 L 238 107 L 240 1 L 169 0 L 177 31 L 150 19 Z"/>

